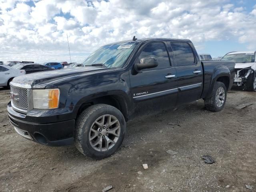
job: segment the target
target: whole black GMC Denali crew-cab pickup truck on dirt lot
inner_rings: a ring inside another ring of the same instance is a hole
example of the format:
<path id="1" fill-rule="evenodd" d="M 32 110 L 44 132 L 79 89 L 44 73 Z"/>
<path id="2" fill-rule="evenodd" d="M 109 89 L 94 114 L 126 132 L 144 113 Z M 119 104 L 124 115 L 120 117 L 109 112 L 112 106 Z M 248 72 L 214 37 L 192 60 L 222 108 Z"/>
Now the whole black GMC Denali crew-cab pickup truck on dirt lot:
<path id="1" fill-rule="evenodd" d="M 134 38 L 103 46 L 83 65 L 12 80 L 8 115 L 18 134 L 50 146 L 74 142 L 82 154 L 105 158 L 138 115 L 200 98 L 222 110 L 235 63 L 200 62 L 190 40 Z"/>

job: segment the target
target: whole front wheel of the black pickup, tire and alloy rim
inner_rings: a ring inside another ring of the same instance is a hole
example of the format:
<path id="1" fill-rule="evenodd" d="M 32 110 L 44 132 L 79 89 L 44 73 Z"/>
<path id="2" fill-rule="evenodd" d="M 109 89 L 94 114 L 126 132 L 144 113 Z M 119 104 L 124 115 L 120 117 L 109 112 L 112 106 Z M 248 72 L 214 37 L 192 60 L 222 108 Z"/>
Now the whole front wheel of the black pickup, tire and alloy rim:
<path id="1" fill-rule="evenodd" d="M 96 104 L 78 116 L 74 143 L 83 155 L 99 160 L 118 150 L 125 133 L 126 122 L 120 110 L 110 105 Z"/>

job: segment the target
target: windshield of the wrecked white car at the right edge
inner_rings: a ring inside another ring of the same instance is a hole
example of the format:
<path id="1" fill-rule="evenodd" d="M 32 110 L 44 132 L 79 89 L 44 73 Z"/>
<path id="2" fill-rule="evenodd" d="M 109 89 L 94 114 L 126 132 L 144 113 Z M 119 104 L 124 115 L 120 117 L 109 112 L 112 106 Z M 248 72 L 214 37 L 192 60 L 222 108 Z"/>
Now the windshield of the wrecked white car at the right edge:
<path id="1" fill-rule="evenodd" d="M 252 63 L 255 62 L 254 53 L 228 54 L 225 55 L 222 61 L 234 61 L 236 63 Z"/>

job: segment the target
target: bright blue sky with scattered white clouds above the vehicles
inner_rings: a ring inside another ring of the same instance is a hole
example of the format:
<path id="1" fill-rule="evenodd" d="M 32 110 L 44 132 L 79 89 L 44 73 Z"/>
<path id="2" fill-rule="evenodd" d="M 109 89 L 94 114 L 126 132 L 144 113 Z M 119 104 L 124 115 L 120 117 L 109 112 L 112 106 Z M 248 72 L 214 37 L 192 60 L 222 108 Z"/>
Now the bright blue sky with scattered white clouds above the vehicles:
<path id="1" fill-rule="evenodd" d="M 0 0 L 0 60 L 82 62 L 104 44 L 190 39 L 198 54 L 256 50 L 256 0 Z"/>

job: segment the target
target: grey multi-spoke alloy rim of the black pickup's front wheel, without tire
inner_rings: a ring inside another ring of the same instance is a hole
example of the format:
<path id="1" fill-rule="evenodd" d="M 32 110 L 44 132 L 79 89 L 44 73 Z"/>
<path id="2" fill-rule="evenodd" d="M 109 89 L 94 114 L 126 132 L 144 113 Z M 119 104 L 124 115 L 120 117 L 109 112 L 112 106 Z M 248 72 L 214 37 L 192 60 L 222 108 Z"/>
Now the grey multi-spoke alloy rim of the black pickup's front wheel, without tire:
<path id="1" fill-rule="evenodd" d="M 110 150 L 119 139 L 120 123 L 113 115 L 102 115 L 92 124 L 89 132 L 89 141 L 96 151 Z"/>

